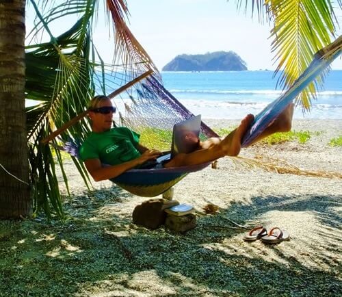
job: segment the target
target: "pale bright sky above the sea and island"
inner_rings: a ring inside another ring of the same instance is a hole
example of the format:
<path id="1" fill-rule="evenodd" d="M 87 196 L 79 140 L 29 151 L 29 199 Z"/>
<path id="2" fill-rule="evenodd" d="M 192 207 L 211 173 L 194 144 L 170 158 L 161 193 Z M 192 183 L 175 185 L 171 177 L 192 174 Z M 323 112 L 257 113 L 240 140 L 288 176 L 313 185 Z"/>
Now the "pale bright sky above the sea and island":
<path id="1" fill-rule="evenodd" d="M 129 28 L 159 70 L 176 55 L 213 51 L 235 51 L 248 70 L 276 68 L 271 27 L 261 25 L 257 14 L 252 18 L 250 10 L 238 12 L 236 0 L 127 0 L 127 5 Z M 338 18 L 342 25 L 342 13 Z M 28 11 L 27 27 L 32 20 Z M 104 60 L 111 62 L 112 41 L 104 24 L 100 16 L 94 39 Z M 63 30 L 63 24 L 54 29 Z M 341 28 L 338 33 L 342 34 Z M 342 69 L 341 58 L 333 62 L 332 69 Z"/>

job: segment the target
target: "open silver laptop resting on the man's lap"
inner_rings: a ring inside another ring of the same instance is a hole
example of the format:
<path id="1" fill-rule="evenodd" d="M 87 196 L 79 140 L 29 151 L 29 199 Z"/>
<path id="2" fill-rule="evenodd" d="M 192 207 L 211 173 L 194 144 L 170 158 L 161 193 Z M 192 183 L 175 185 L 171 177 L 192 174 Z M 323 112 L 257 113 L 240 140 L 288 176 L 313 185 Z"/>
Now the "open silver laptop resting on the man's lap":
<path id="1" fill-rule="evenodd" d="M 198 148 L 200 141 L 200 122 L 201 116 L 194 116 L 178 122 L 172 131 L 172 143 L 170 151 L 163 152 L 157 159 L 148 160 L 140 168 L 153 168 L 158 164 L 168 162 L 172 157 L 179 153 L 191 153 Z"/>

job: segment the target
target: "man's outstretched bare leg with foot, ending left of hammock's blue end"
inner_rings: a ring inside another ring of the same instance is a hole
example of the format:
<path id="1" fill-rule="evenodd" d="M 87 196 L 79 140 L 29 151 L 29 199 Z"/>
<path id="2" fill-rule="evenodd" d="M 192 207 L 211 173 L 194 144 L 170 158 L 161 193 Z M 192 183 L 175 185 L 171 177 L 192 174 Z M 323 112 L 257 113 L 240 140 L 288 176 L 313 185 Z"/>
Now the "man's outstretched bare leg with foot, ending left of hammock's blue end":
<path id="1" fill-rule="evenodd" d="M 226 155 L 236 156 L 239 154 L 241 149 L 241 138 L 246 133 L 246 130 L 253 121 L 254 116 L 248 114 L 237 129 L 229 133 L 221 141 L 214 143 L 209 148 L 200 149 L 189 154 L 176 155 L 170 162 L 165 164 L 166 168 L 169 167 L 181 167 L 188 165 L 202 164 L 210 162 Z"/>

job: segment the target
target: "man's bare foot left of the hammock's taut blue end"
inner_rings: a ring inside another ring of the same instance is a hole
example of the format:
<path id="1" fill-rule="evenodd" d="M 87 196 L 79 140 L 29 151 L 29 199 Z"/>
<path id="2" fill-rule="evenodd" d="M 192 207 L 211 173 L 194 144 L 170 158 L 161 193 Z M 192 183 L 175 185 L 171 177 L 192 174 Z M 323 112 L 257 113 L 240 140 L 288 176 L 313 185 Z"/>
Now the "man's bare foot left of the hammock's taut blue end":
<path id="1" fill-rule="evenodd" d="M 246 118 L 241 120 L 241 123 L 237 129 L 233 132 L 229 133 L 220 143 L 222 151 L 224 151 L 225 155 L 228 156 L 237 156 L 240 153 L 241 149 L 241 138 L 246 133 L 248 127 L 254 120 L 254 116 L 252 114 L 248 114 Z"/>

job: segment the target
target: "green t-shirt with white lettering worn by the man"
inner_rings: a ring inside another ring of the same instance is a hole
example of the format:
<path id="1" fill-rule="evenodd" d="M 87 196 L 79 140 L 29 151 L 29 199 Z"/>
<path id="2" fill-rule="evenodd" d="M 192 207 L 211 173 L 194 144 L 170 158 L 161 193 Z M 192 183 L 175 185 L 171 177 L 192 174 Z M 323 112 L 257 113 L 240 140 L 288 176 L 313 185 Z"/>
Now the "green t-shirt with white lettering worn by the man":
<path id="1" fill-rule="evenodd" d="M 79 149 L 83 161 L 100 159 L 103 164 L 117 165 L 140 157 L 137 150 L 140 135 L 126 127 L 92 132 Z"/>

